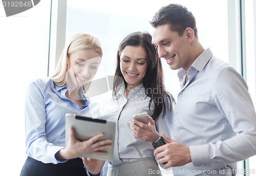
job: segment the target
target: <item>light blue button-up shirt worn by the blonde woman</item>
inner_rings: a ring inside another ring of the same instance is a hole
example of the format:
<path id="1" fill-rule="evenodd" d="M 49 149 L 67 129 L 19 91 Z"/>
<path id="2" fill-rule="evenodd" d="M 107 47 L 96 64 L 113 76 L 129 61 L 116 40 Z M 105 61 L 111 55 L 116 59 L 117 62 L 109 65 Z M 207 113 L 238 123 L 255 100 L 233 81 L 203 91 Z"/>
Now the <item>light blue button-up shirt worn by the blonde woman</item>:
<path id="1" fill-rule="evenodd" d="M 25 102 L 26 152 L 43 163 L 61 163 L 55 154 L 65 148 L 65 115 L 99 117 L 96 106 L 90 103 L 80 89 L 85 105 L 78 106 L 65 95 L 67 86 L 56 85 L 51 78 L 31 81 Z M 90 103 L 90 106 L 88 106 Z M 92 106 L 92 108 L 90 108 Z"/>

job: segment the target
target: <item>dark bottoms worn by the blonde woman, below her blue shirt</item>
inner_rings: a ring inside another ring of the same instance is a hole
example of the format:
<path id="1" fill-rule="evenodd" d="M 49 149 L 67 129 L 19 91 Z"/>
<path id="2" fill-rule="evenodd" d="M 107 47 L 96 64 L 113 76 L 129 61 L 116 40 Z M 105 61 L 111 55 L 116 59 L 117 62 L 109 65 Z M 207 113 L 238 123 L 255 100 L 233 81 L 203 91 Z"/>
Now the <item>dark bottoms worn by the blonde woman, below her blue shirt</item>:
<path id="1" fill-rule="evenodd" d="M 87 175 L 86 169 L 83 167 L 82 160 L 76 158 L 65 163 L 42 163 L 33 158 L 28 157 L 20 176 L 77 176 Z"/>

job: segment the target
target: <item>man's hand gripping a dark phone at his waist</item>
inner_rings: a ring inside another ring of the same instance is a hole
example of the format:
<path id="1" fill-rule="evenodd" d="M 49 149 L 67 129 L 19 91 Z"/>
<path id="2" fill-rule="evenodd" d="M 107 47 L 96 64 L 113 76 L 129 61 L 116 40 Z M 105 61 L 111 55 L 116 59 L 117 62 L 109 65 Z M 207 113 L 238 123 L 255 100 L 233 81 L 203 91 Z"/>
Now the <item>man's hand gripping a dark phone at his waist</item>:
<path id="1" fill-rule="evenodd" d="M 154 156 L 156 156 L 159 164 L 164 164 L 164 168 L 183 166 L 191 162 L 189 147 L 174 141 L 162 133 L 162 137 L 167 144 L 155 149 Z"/>

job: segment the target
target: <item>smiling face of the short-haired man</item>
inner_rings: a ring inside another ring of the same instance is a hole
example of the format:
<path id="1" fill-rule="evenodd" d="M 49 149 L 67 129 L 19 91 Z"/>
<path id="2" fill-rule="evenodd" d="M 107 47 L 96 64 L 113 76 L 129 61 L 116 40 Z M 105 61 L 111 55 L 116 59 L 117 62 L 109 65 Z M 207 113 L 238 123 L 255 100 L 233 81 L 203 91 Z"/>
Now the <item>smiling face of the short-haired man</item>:
<path id="1" fill-rule="evenodd" d="M 164 58 L 172 70 L 190 67 L 189 42 L 186 33 L 179 36 L 171 31 L 168 24 L 153 29 L 152 43 L 156 46 L 159 57 Z"/>

